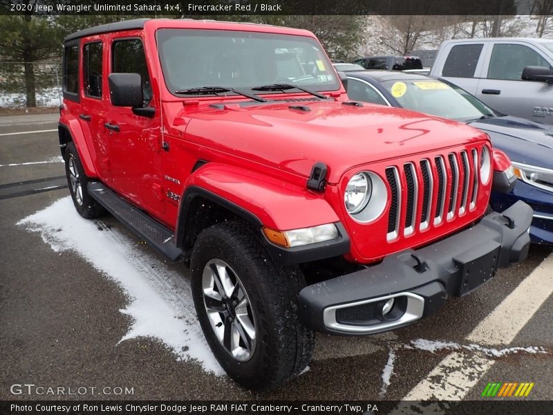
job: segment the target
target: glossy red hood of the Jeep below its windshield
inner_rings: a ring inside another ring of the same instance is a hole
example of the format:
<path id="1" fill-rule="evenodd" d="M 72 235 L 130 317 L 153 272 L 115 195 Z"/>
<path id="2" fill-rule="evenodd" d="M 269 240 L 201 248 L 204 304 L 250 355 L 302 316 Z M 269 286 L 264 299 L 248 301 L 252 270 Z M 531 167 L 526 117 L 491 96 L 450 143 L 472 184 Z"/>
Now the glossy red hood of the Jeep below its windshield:
<path id="1" fill-rule="evenodd" d="M 487 139 L 454 121 L 330 100 L 200 104 L 186 114 L 191 117 L 187 140 L 305 177 L 322 162 L 328 166 L 330 183 L 357 165 Z"/>

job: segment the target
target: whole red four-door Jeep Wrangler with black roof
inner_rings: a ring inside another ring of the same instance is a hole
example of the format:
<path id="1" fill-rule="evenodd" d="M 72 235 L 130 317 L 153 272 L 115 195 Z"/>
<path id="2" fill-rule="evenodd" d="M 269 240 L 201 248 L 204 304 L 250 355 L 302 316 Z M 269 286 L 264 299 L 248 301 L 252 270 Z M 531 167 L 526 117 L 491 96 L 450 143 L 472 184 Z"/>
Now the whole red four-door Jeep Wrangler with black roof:
<path id="1" fill-rule="evenodd" d="M 509 179 L 489 138 L 349 101 L 306 30 L 140 19 L 64 46 L 75 208 L 189 261 L 207 342 L 241 385 L 299 374 L 313 331 L 406 326 L 527 255 L 532 210 L 486 214 L 494 175 Z"/>

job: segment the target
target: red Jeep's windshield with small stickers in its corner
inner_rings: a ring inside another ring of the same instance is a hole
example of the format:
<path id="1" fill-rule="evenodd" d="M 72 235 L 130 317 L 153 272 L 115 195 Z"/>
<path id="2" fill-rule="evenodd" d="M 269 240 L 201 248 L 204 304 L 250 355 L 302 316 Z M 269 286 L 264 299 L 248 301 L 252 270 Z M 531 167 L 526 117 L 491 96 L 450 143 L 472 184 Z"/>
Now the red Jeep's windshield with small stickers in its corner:
<path id="1" fill-rule="evenodd" d="M 174 94 L 205 86 L 249 90 L 286 83 L 313 91 L 335 91 L 340 87 L 332 64 L 311 37 L 160 29 L 157 38 L 165 84 Z"/>

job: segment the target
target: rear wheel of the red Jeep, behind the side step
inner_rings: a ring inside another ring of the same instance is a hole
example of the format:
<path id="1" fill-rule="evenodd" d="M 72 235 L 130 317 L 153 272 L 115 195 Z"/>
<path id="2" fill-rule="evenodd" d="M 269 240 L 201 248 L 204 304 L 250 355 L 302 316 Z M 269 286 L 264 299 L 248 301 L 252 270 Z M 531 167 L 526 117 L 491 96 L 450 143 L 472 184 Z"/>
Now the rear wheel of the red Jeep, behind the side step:
<path id="1" fill-rule="evenodd" d="M 88 194 L 89 178 L 84 174 L 81 159 L 73 142 L 69 142 L 65 149 L 65 174 L 73 205 L 84 219 L 94 219 L 106 212 L 102 205 Z M 80 191 L 79 191 L 80 187 Z"/>

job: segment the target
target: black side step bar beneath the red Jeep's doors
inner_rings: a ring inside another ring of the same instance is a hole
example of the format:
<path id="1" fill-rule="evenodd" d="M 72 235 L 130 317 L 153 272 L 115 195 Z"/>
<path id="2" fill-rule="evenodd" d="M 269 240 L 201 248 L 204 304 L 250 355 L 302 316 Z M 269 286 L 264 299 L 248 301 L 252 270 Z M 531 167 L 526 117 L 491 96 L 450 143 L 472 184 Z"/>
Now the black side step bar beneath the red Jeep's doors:
<path id="1" fill-rule="evenodd" d="M 89 182 L 87 188 L 93 199 L 169 261 L 176 262 L 182 257 L 182 250 L 173 241 L 174 232 L 169 228 L 151 219 L 102 183 Z"/>

